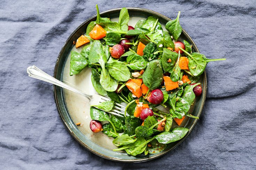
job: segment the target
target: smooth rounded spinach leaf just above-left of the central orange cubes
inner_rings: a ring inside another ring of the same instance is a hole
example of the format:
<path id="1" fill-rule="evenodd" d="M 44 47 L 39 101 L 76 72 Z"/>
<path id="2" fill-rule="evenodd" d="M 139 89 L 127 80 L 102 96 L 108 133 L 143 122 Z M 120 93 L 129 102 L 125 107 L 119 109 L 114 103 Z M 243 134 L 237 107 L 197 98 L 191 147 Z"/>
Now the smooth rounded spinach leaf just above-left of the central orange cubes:
<path id="1" fill-rule="evenodd" d="M 130 79 L 130 70 L 123 62 L 114 61 L 106 67 L 108 68 L 109 74 L 116 80 L 125 82 Z"/>

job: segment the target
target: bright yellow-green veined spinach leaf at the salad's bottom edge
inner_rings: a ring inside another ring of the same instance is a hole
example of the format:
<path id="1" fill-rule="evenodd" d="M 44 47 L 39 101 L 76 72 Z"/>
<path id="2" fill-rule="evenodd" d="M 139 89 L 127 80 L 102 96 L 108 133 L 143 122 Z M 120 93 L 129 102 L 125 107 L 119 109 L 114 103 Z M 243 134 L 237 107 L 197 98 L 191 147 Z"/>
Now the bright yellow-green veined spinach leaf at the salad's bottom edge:
<path id="1" fill-rule="evenodd" d="M 126 148 L 125 151 L 127 152 L 127 154 L 132 155 L 132 156 L 136 156 L 138 154 L 141 154 L 142 152 L 145 151 L 146 147 L 147 147 L 147 141 L 142 138 L 142 137 L 138 137 L 137 140 L 134 143 L 131 143 L 129 145 L 125 145 Z M 134 152 L 135 150 L 135 152 Z"/>

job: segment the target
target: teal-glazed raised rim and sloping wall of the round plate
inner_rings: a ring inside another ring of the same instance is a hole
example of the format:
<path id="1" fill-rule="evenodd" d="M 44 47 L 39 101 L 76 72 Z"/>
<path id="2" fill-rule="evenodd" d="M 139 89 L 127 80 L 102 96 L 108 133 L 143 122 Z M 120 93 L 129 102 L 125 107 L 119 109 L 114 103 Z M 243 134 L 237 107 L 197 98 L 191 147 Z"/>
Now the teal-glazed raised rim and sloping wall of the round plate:
<path id="1" fill-rule="evenodd" d="M 160 22 L 162 23 L 166 23 L 169 20 L 171 20 L 170 18 L 159 14 L 158 12 L 149 10 L 149 9 L 143 9 L 143 8 L 127 8 L 129 11 L 129 15 L 130 16 L 141 16 L 141 17 L 145 17 L 145 16 L 155 16 L 158 17 L 158 19 L 160 20 Z M 112 15 L 115 17 L 118 17 L 119 12 L 120 12 L 121 8 L 117 8 L 117 9 L 111 9 L 108 11 L 104 11 L 101 12 L 100 15 L 103 17 L 110 17 Z M 136 14 L 136 15 L 132 15 L 132 14 Z M 68 54 L 73 46 L 73 41 L 77 40 L 77 38 L 85 33 L 84 28 L 86 28 L 86 26 L 93 20 L 96 19 L 96 16 L 93 16 L 91 18 L 89 18 L 88 20 L 86 20 L 84 23 L 82 23 L 67 39 L 67 41 L 65 42 L 65 44 L 63 45 L 59 56 L 57 57 L 56 60 L 56 64 L 55 64 L 55 68 L 54 68 L 54 77 L 56 79 L 62 80 L 62 73 L 63 73 L 63 68 L 64 68 L 64 64 L 65 61 L 68 57 Z M 194 48 L 195 52 L 199 52 L 196 44 L 194 43 L 194 41 L 192 40 L 192 38 L 187 34 L 187 32 L 182 29 L 182 33 L 181 36 L 185 37 L 186 40 L 188 40 L 188 42 L 190 42 Z M 200 82 L 203 86 L 203 93 L 201 95 L 201 97 L 199 97 L 198 99 L 196 99 L 196 103 L 200 102 L 200 105 L 195 105 L 195 108 L 197 106 L 197 114 L 195 116 L 200 117 L 203 106 L 204 106 L 204 102 L 205 102 L 205 98 L 206 98 L 206 93 L 207 93 L 207 77 L 206 77 L 206 72 L 204 71 L 204 74 L 201 75 L 200 78 Z M 90 152 L 108 159 L 108 160 L 112 160 L 112 161 L 117 161 L 117 162 L 145 162 L 145 161 L 149 161 L 149 160 L 153 160 L 156 158 L 159 158 L 160 156 L 163 156 L 164 154 L 168 153 L 169 151 L 173 150 L 174 148 L 176 148 L 181 142 L 183 142 L 185 140 L 185 138 L 189 135 L 189 133 L 192 131 L 192 129 L 195 127 L 198 119 L 194 119 L 192 120 L 192 118 L 189 118 L 188 122 L 190 124 L 189 127 L 189 131 L 186 134 L 186 136 L 184 138 L 182 138 L 181 140 L 177 141 L 174 143 L 173 146 L 171 147 L 167 147 L 164 151 L 158 153 L 158 154 L 150 154 L 150 157 L 148 157 L 148 155 L 146 156 L 130 156 L 127 155 L 126 153 L 120 153 L 120 152 L 115 152 L 115 154 L 109 156 L 106 153 L 102 153 L 99 151 L 105 151 L 107 153 L 109 152 L 114 152 L 114 151 L 110 151 L 107 150 L 101 146 L 96 146 L 93 145 L 98 151 L 96 151 L 96 149 L 91 148 L 91 146 L 89 146 L 88 143 L 85 143 L 83 141 L 86 140 L 86 138 L 84 138 L 85 136 L 80 132 L 80 130 L 77 128 L 77 126 L 72 122 L 69 113 L 67 111 L 67 109 L 65 108 L 65 103 L 64 103 L 64 98 L 63 98 L 63 92 L 62 92 L 62 88 L 56 85 L 53 85 L 53 92 L 54 92 L 54 99 L 55 99 L 55 103 L 56 103 L 56 107 L 57 110 L 59 112 L 59 115 L 61 117 L 61 120 L 63 121 L 63 124 L 65 125 L 65 127 L 68 129 L 69 133 L 76 139 L 76 141 L 81 144 L 83 147 L 85 147 L 87 150 L 89 150 Z M 195 112 L 195 108 L 193 110 L 193 113 Z M 83 137 L 84 136 L 84 137 Z M 83 139 L 82 139 L 83 138 Z M 125 159 L 124 159 L 125 157 Z M 129 159 L 126 159 L 129 158 Z"/>

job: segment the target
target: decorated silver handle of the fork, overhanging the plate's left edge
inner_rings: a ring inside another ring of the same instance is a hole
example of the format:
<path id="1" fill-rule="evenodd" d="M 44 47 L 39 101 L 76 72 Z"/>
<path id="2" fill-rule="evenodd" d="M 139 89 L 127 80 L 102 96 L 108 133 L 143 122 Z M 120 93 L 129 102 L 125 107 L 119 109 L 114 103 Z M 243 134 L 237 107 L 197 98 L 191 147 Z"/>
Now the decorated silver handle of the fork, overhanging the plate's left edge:
<path id="1" fill-rule="evenodd" d="M 56 78 L 46 74 L 44 71 L 40 70 L 36 66 L 28 67 L 27 73 L 29 74 L 29 77 L 33 77 L 33 78 L 36 78 L 36 79 L 39 79 L 39 80 L 43 80 L 45 82 L 52 83 L 56 86 L 60 86 L 62 88 L 68 89 L 72 92 L 75 92 L 77 94 L 80 94 L 80 95 L 86 97 L 91 102 L 92 95 L 87 95 L 87 94 L 84 94 L 84 93 L 80 92 L 79 90 L 77 90 L 77 89 L 61 82 L 60 80 L 57 80 Z"/>

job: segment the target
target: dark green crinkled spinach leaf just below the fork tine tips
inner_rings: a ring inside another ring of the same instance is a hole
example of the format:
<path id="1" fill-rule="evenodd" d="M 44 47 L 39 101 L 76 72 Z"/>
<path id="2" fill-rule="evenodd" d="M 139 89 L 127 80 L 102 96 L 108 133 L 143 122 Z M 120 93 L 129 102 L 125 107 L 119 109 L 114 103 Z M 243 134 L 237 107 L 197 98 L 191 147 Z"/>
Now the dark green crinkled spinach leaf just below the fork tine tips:
<path id="1" fill-rule="evenodd" d="M 134 116 L 125 117 L 125 125 L 129 136 L 135 134 L 135 129 L 141 125 L 140 119 Z"/>

